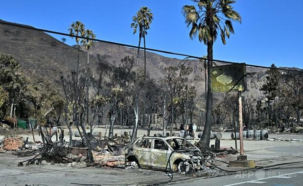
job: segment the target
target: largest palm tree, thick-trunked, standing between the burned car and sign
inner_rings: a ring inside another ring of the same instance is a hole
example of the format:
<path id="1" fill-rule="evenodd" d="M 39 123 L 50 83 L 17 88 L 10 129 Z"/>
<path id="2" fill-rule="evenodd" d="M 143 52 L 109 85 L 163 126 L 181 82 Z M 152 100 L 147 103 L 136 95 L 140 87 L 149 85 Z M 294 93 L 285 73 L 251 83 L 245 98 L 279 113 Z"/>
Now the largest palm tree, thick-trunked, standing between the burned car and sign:
<path id="1" fill-rule="evenodd" d="M 192 0 L 195 5 L 185 5 L 182 12 L 185 17 L 187 27 L 191 27 L 189 37 L 193 39 L 198 35 L 199 41 L 207 45 L 208 67 L 208 90 L 207 90 L 207 110 L 206 122 L 203 135 L 199 141 L 201 145 L 210 145 L 211 130 L 211 66 L 212 66 L 212 46 L 218 32 L 220 32 L 223 44 L 226 44 L 225 36 L 234 34 L 232 21 L 241 22 L 241 16 L 233 10 L 232 4 L 235 0 Z"/>

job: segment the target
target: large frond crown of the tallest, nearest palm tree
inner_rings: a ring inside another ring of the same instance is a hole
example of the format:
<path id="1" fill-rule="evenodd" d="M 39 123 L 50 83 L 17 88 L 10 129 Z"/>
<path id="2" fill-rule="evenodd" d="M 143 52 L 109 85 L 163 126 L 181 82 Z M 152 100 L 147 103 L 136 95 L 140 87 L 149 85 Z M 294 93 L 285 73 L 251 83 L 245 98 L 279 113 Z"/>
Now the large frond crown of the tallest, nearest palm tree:
<path id="1" fill-rule="evenodd" d="M 225 36 L 229 38 L 230 33 L 234 34 L 232 21 L 242 21 L 241 16 L 233 10 L 235 0 L 192 1 L 195 5 L 182 7 L 186 26 L 190 27 L 189 37 L 192 39 L 198 35 L 199 41 L 207 44 L 209 41 L 214 42 L 220 31 L 222 42 L 226 44 Z M 219 15 L 221 13 L 225 18 Z"/>

